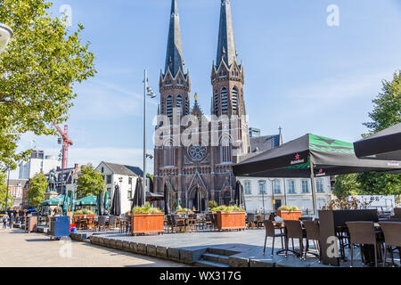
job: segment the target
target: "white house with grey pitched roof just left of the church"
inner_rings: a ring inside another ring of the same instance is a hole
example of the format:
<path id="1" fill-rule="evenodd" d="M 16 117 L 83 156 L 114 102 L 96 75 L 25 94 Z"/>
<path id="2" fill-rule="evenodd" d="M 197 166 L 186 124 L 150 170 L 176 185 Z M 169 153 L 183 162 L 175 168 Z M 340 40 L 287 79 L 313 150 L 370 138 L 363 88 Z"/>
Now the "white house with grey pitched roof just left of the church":
<path id="1" fill-rule="evenodd" d="M 103 175 L 105 189 L 109 192 L 110 199 L 114 195 L 115 185 L 119 185 L 121 213 L 124 214 L 131 210 L 132 202 L 130 199 L 134 198 L 136 182 L 138 178 L 143 177 L 143 170 L 139 167 L 130 167 L 104 161 L 95 169 Z M 149 185 L 148 180 L 146 185 Z M 147 190 L 145 189 L 145 191 Z"/>

